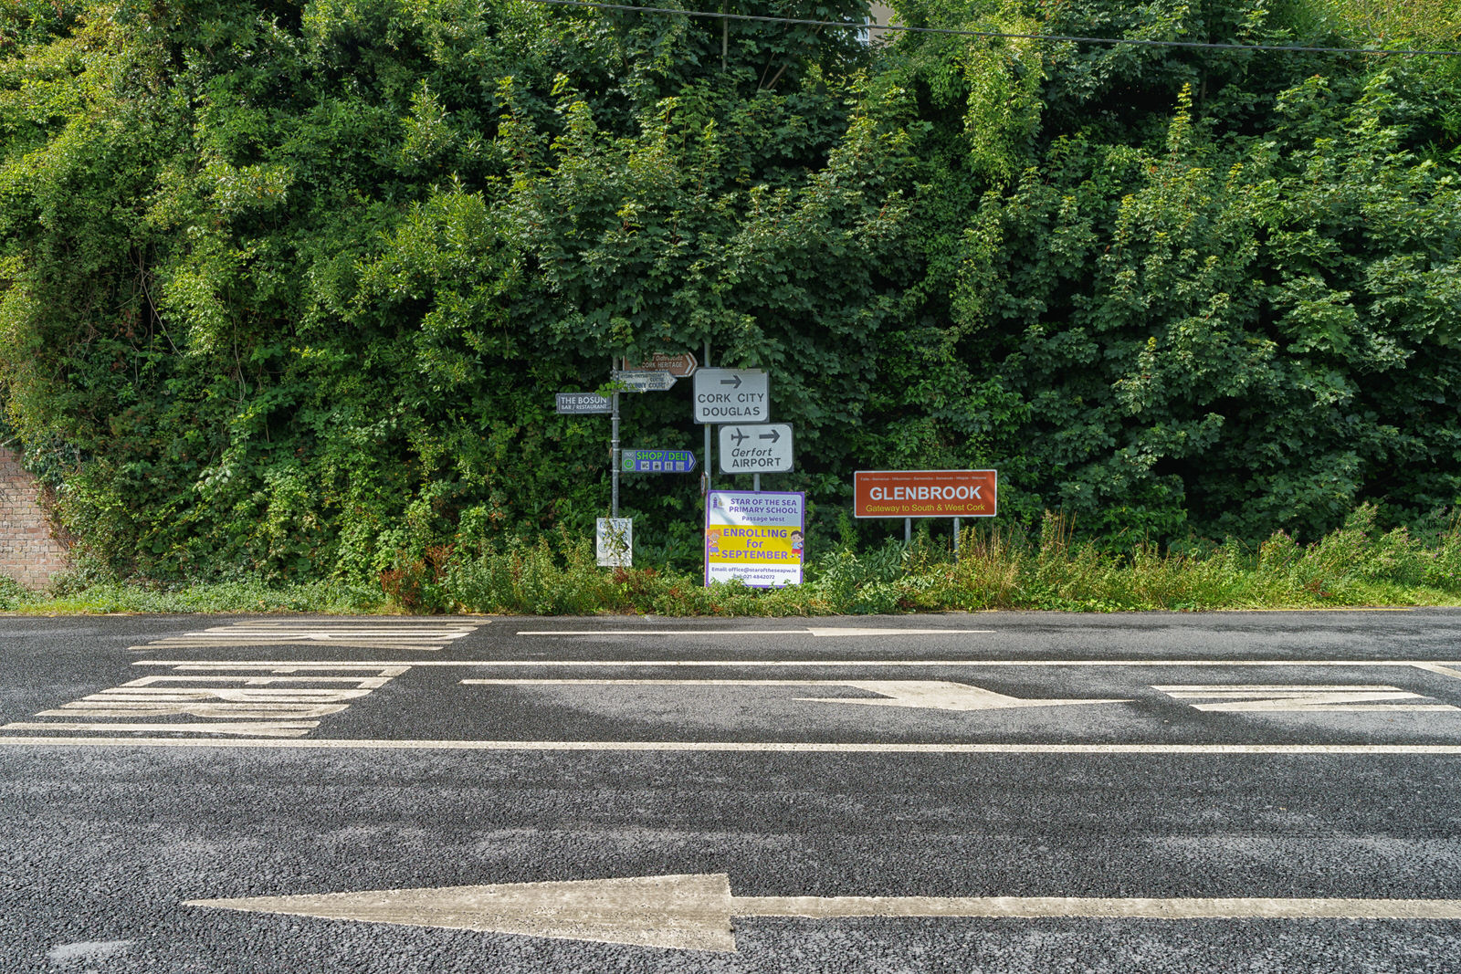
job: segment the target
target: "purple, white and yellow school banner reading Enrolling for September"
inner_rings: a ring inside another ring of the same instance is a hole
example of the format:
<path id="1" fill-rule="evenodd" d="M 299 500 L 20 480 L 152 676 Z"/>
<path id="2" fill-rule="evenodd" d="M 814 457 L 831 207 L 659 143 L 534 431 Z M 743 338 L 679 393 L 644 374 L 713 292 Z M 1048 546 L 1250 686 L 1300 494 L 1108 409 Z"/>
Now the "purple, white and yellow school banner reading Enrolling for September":
<path id="1" fill-rule="evenodd" d="M 801 491 L 710 491 L 706 584 L 739 578 L 752 588 L 799 586 L 805 532 Z"/>

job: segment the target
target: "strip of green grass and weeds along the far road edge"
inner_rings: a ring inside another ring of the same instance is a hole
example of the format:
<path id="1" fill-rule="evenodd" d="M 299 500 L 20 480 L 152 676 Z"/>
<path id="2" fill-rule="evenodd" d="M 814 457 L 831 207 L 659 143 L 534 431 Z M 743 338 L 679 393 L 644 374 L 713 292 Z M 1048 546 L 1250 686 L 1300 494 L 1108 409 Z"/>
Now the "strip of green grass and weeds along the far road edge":
<path id="1" fill-rule="evenodd" d="M 1138 545 L 1121 553 L 1072 540 L 1049 515 L 1037 537 L 988 526 L 963 533 L 961 558 L 928 537 L 906 546 L 824 552 L 806 581 L 777 590 L 704 586 L 698 572 L 605 570 L 586 539 L 438 549 L 386 572 L 380 586 L 262 581 L 169 587 L 63 580 L 54 594 L 0 584 L 0 609 L 86 612 L 473 612 L 516 615 L 869 615 L 985 609 L 1078 612 L 1313 609 L 1461 605 L 1461 529 L 1417 539 L 1378 532 L 1362 507 L 1313 545 L 1277 533 L 1256 549 L 1237 543 L 1199 553 Z M 9 580 L 3 580 L 9 581 Z"/>

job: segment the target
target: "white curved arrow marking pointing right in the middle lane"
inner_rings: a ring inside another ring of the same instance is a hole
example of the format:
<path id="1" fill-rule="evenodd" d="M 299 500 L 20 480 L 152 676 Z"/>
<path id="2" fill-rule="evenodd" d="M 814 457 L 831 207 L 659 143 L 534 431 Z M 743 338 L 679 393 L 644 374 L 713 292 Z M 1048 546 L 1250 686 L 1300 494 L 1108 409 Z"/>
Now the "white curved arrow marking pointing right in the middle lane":
<path id="1" fill-rule="evenodd" d="M 473 686 L 852 686 L 880 699 L 859 697 L 796 697 L 814 704 L 862 704 L 868 707 L 922 707 L 928 710 L 1011 710 L 1015 707 L 1061 707 L 1069 704 L 1125 704 L 1126 699 L 1021 699 L 969 683 L 950 680 L 671 680 L 671 679 L 466 679 Z"/>

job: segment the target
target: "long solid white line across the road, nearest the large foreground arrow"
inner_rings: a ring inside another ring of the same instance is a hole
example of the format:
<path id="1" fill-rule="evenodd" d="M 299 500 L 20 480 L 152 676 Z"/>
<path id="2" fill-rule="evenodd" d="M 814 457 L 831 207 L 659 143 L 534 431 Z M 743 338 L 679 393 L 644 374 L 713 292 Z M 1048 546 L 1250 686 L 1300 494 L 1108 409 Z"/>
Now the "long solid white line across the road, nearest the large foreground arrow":
<path id="1" fill-rule="evenodd" d="M 42 724 L 51 729 L 56 724 Z M 86 724 L 94 727 L 95 724 Z M 16 727 L 16 724 L 7 724 Z M 168 730 L 177 724 L 161 724 Z M 1081 755 L 1391 755 L 1461 756 L 1461 745 L 1198 745 L 1198 743 L 896 743 L 780 740 L 387 740 L 330 739 L 232 740 L 212 737 L 4 737 L 0 746 L 83 748 L 304 748 L 316 751 L 644 751 L 749 753 L 1081 753 Z"/>

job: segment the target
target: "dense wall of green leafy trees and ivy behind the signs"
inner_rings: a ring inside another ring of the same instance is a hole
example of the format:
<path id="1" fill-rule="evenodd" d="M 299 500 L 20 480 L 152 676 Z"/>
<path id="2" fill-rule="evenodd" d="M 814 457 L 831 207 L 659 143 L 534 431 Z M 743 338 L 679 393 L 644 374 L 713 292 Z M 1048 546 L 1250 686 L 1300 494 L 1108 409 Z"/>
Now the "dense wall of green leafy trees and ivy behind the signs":
<path id="1" fill-rule="evenodd" d="M 1430 0 L 897 6 L 1461 47 Z M 799 463 L 774 485 L 824 533 L 877 466 L 998 467 L 1010 517 L 1097 539 L 1457 502 L 1457 60 L 725 38 L 520 0 L 7 4 L 0 383 L 66 527 L 203 578 L 581 530 L 608 423 L 552 393 L 706 342 L 771 372 Z M 698 447 L 685 386 L 624 397 L 627 445 Z M 698 556 L 694 483 L 624 498 L 650 558 Z"/>

